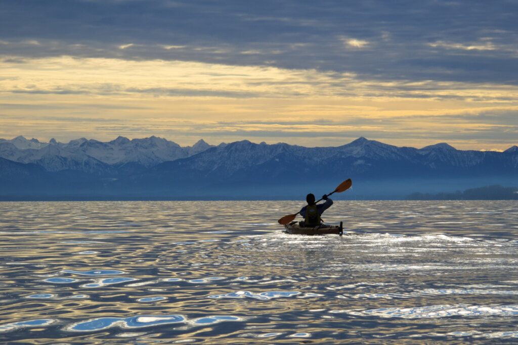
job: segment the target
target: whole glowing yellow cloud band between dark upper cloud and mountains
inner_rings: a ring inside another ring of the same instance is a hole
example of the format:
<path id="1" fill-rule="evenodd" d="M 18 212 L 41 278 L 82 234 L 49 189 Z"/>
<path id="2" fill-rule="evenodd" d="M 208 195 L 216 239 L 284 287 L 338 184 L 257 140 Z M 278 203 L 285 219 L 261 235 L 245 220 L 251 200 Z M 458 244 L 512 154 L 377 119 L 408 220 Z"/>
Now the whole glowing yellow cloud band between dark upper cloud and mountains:
<path id="1" fill-rule="evenodd" d="M 315 69 L 63 56 L 4 59 L 0 80 L 0 137 L 8 138 L 154 134 L 191 144 L 205 134 L 228 142 L 264 133 L 268 142 L 329 145 L 401 133 L 389 142 L 415 145 L 436 142 L 430 133 L 499 130 L 441 115 L 518 112 L 514 85 L 367 80 Z M 314 133 L 328 135 L 309 139 Z"/>

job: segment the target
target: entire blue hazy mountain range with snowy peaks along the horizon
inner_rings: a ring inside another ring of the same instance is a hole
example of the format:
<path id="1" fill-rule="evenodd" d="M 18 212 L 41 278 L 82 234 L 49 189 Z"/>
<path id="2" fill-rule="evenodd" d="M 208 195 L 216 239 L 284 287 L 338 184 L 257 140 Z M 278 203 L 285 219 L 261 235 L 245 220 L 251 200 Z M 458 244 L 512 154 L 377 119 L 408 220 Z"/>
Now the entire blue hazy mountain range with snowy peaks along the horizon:
<path id="1" fill-rule="evenodd" d="M 518 147 L 461 151 L 358 138 L 337 147 L 247 140 L 182 147 L 163 138 L 42 143 L 0 139 L 3 200 L 304 199 L 353 179 L 345 199 L 399 199 L 491 184 L 518 185 Z"/>

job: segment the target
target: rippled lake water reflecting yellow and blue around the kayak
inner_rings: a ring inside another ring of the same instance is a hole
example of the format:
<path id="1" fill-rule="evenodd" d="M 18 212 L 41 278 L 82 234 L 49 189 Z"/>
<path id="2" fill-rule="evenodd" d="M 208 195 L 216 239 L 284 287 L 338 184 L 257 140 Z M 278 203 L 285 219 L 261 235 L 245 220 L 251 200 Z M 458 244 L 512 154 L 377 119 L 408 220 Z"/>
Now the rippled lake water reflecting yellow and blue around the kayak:
<path id="1" fill-rule="evenodd" d="M 0 203 L 0 342 L 518 342 L 516 201 Z"/>

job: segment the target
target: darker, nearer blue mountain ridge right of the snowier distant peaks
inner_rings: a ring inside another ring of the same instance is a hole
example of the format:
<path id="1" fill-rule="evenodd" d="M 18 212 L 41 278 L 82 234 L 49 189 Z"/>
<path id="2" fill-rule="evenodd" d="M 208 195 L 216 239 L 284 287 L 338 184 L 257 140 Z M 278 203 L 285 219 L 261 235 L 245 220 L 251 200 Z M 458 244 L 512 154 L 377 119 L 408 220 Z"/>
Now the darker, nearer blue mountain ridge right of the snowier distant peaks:
<path id="1" fill-rule="evenodd" d="M 410 180 L 441 180 L 441 185 L 453 179 L 460 183 L 514 181 L 518 184 L 517 158 L 518 153 L 512 152 L 459 151 L 443 144 L 417 149 L 365 138 L 338 147 L 314 148 L 282 143 L 254 144 L 245 140 L 157 164 L 130 179 L 136 186 L 169 186 L 172 189 L 201 185 L 205 186 L 204 189 L 217 186 L 231 189 L 237 185 L 242 188 L 251 185 L 314 185 L 344 176 L 364 181 L 399 181 L 397 188 L 401 190 L 407 188 L 405 184 Z M 388 186 L 376 188 L 387 189 Z"/>

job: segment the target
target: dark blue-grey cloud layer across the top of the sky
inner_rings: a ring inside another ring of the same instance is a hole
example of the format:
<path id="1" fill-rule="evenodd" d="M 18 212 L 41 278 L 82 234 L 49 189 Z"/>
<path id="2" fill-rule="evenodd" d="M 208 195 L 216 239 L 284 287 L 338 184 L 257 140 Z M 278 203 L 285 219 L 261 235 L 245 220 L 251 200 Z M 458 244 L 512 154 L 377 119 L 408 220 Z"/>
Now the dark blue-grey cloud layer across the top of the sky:
<path id="1" fill-rule="evenodd" d="M 4 0 L 0 52 L 518 84 L 517 12 L 505 0 Z"/>

